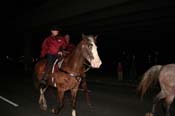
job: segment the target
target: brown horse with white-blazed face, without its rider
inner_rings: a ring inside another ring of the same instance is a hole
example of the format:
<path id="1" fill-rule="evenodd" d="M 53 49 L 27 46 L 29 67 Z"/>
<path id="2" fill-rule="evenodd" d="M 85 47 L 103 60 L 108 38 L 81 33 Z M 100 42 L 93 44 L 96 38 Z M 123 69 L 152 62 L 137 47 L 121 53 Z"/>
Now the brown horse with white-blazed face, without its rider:
<path id="1" fill-rule="evenodd" d="M 56 87 L 58 93 L 59 107 L 53 109 L 53 113 L 59 113 L 63 107 L 63 99 L 66 91 L 71 91 L 72 96 L 72 116 L 76 116 L 76 96 L 81 80 L 85 77 L 84 63 L 87 61 L 92 68 L 99 68 L 102 64 L 98 55 L 96 46 L 97 36 L 82 35 L 82 40 L 73 50 L 73 52 L 64 58 L 61 68 L 53 74 L 48 76 L 48 85 Z M 46 61 L 39 61 L 35 65 L 35 74 L 38 80 L 44 73 L 44 65 Z M 54 81 L 53 81 L 54 80 Z M 84 80 L 83 86 L 86 87 L 86 81 Z M 47 109 L 47 103 L 44 96 L 46 88 L 40 88 L 39 104 L 42 110 Z M 87 89 L 86 89 L 87 90 Z"/>

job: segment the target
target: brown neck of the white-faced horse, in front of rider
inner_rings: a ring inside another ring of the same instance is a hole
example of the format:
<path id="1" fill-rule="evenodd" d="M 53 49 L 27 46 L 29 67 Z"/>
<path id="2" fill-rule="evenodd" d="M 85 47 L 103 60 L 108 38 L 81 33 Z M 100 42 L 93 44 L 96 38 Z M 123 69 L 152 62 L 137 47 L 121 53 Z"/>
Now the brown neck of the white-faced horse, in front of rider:
<path id="1" fill-rule="evenodd" d="M 78 44 L 73 52 L 68 55 L 62 65 L 67 71 L 80 72 L 83 68 L 84 58 L 81 53 L 81 45 Z"/>

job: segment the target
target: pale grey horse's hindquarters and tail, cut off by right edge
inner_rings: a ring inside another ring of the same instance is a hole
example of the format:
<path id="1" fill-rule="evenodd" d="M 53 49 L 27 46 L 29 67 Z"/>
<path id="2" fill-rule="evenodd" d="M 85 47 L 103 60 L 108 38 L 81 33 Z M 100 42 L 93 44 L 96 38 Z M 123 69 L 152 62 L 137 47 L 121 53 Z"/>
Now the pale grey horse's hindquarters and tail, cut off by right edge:
<path id="1" fill-rule="evenodd" d="M 152 113 L 149 113 L 149 115 L 152 116 L 155 113 L 157 103 L 164 99 L 166 103 L 166 116 L 170 116 L 170 105 L 175 97 L 175 64 L 155 65 L 148 69 L 144 73 L 139 85 L 141 96 L 145 94 L 150 85 L 156 80 L 159 81 L 161 91 L 154 98 Z"/>

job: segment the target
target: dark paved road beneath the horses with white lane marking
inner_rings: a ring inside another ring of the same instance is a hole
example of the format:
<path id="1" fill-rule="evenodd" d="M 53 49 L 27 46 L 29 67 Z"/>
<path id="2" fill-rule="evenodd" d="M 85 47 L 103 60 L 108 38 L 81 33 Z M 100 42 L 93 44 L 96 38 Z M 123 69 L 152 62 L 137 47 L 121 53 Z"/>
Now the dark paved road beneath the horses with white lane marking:
<path id="1" fill-rule="evenodd" d="M 136 89 L 128 86 L 109 86 L 90 82 L 88 83 L 90 90 L 92 108 L 89 108 L 85 102 L 85 96 L 79 91 L 77 100 L 78 116 L 144 116 L 146 112 L 151 110 L 151 98 L 148 95 L 143 101 L 140 101 Z M 47 92 L 48 104 L 56 103 L 55 97 L 51 97 Z M 29 76 L 18 77 L 17 75 L 2 75 L 0 79 L 0 96 L 3 96 L 19 107 L 0 99 L 0 115 L 1 116 L 53 116 L 50 111 L 40 111 L 38 105 L 38 91 L 33 86 L 32 79 Z M 52 94 L 55 95 L 55 94 Z M 69 93 L 66 93 L 65 105 L 59 116 L 71 116 L 71 103 Z M 162 103 L 159 104 L 159 116 L 163 116 Z M 175 104 L 171 107 L 171 116 L 175 116 L 173 112 Z"/>

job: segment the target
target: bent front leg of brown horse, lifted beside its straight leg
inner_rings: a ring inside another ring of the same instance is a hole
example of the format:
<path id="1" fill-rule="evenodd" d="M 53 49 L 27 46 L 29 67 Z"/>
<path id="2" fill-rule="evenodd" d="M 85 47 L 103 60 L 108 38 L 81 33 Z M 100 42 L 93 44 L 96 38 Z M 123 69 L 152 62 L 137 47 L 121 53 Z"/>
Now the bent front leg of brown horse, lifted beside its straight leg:
<path id="1" fill-rule="evenodd" d="M 64 106 L 64 103 L 63 103 L 64 93 L 65 93 L 65 91 L 58 90 L 58 108 L 57 109 L 52 108 L 52 110 L 51 110 L 52 113 L 58 114 L 61 111 L 61 109 L 63 108 L 63 106 Z"/>

